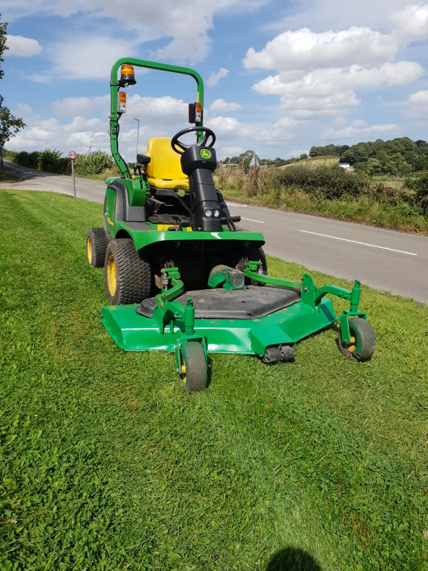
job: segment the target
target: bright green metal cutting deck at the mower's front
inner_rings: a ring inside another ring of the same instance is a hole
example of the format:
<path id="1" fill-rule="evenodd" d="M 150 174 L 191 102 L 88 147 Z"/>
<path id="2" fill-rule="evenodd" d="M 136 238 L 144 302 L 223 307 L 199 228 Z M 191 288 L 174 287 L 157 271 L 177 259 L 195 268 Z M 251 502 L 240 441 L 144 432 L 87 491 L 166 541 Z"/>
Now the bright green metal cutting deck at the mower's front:
<path id="1" fill-rule="evenodd" d="M 257 289 L 257 295 L 261 297 L 261 290 L 277 293 L 277 288 L 265 287 L 248 288 L 251 298 L 254 295 L 254 290 Z M 280 289 L 280 288 L 278 288 Z M 263 317 L 242 316 L 241 318 L 231 318 L 224 315 L 223 317 L 195 317 L 195 335 L 204 337 L 207 340 L 207 350 L 215 353 L 244 353 L 263 356 L 265 348 L 268 345 L 292 345 L 300 341 L 304 337 L 311 335 L 320 329 L 328 327 L 338 317 L 334 313 L 332 301 L 329 299 L 322 299 L 319 305 L 319 310 L 313 311 L 309 305 L 302 303 L 299 300 L 297 292 L 292 289 L 285 289 L 280 293 L 284 295 L 284 305 L 281 309 L 273 309 L 268 315 Z M 223 305 L 227 305 L 228 294 L 241 293 L 240 291 L 227 292 L 224 289 L 212 290 L 210 293 L 219 292 L 218 300 L 223 299 Z M 251 293 L 252 292 L 252 293 Z M 187 295 L 194 295 L 195 293 L 203 293 L 205 295 L 205 303 L 208 299 L 207 291 L 203 292 L 188 292 Z M 245 293 L 245 290 L 243 291 Z M 290 301 L 291 297 L 296 301 Z M 187 297 L 187 296 L 183 296 Z M 196 300 L 195 300 L 196 297 Z M 198 296 L 193 297 L 195 301 L 195 312 L 197 312 Z M 229 296 L 232 303 L 232 297 Z M 269 296 L 268 296 L 269 297 Z M 202 298 L 199 297 L 201 300 Z M 179 301 L 177 299 L 177 301 Z M 152 300 L 147 300 L 151 301 Z M 243 301 L 241 299 L 241 301 Z M 269 303 L 272 303 L 270 300 Z M 144 302 L 143 302 L 144 304 Z M 142 305 L 143 305 L 142 304 Z M 260 309 L 265 301 L 262 297 L 259 305 L 252 305 L 254 310 Z M 207 304 L 208 305 L 208 304 Z M 247 303 L 245 303 L 247 305 Z M 287 306 L 287 307 L 285 307 Z M 273 307 L 271 305 L 271 307 Z M 126 351 L 148 351 L 148 350 L 164 350 L 174 351 L 177 341 L 183 336 L 185 327 L 184 321 L 172 320 L 172 327 L 168 327 L 168 332 L 161 333 L 158 324 L 155 320 L 149 317 L 153 312 L 153 307 L 147 307 L 147 316 L 140 315 L 140 305 L 111 305 L 102 308 L 102 321 L 104 327 L 107 329 L 109 335 L 114 339 L 115 343 L 121 349 Z M 213 309 L 212 307 L 205 307 L 201 312 L 207 312 L 212 315 L 217 312 L 225 313 L 221 308 Z M 235 310 L 239 312 L 238 309 Z M 263 308 L 265 313 L 265 307 Z M 197 315 L 197 313 L 196 313 Z M 173 331 L 172 331 L 173 329 Z"/>

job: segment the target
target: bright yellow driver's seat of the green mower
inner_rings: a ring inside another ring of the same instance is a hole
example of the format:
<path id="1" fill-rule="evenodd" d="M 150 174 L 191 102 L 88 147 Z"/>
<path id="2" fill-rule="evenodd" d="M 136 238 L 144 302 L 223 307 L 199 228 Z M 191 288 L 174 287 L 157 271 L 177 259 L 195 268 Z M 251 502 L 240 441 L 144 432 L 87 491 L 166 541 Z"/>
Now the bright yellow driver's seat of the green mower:
<path id="1" fill-rule="evenodd" d="M 189 178 L 181 170 L 180 155 L 173 151 L 171 139 L 154 137 L 147 142 L 146 155 L 148 183 L 156 188 L 183 188 L 189 190 Z"/>

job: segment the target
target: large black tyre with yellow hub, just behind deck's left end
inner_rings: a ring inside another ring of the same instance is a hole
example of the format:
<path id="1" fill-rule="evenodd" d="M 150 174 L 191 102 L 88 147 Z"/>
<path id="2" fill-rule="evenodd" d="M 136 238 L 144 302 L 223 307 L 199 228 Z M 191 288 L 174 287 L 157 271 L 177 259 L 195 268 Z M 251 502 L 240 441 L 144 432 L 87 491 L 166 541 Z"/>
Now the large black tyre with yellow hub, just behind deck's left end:
<path id="1" fill-rule="evenodd" d="M 104 280 L 108 300 L 113 305 L 141 303 L 150 297 L 150 264 L 141 258 L 131 239 L 121 238 L 108 243 Z"/>

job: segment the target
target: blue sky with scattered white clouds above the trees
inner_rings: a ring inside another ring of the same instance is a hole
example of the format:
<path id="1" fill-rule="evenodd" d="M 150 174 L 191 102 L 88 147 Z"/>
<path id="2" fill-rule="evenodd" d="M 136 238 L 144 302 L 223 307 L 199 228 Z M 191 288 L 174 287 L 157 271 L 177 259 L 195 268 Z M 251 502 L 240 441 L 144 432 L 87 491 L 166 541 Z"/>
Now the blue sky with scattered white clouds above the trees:
<path id="1" fill-rule="evenodd" d="M 373 8 L 374 6 L 374 8 Z M 193 67 L 217 156 L 289 158 L 313 144 L 427 139 L 428 4 L 403 0 L 2 0 L 0 93 L 27 123 L 8 148 L 108 150 L 120 57 Z M 191 78 L 149 71 L 128 88 L 120 149 L 188 126 Z"/>

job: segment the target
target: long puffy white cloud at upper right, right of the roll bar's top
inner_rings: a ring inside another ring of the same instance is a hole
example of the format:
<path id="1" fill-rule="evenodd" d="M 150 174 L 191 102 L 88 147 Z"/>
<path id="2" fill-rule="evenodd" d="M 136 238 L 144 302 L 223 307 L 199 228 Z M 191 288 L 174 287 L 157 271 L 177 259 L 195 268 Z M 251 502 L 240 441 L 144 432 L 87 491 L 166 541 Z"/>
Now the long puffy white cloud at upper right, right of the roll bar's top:
<path id="1" fill-rule="evenodd" d="M 391 61 L 397 50 L 397 38 L 369 27 L 322 33 L 302 28 L 278 34 L 261 51 L 251 47 L 243 64 L 281 71 L 342 67 L 349 62 L 376 65 Z"/>

